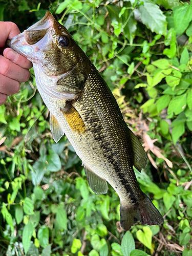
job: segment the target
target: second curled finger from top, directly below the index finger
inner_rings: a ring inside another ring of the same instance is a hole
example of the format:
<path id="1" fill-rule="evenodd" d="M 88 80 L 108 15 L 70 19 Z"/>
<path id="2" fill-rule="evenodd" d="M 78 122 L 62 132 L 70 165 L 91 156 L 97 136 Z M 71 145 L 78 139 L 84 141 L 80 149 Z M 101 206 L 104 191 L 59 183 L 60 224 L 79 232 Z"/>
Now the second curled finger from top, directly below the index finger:
<path id="1" fill-rule="evenodd" d="M 29 70 L 19 67 L 2 55 L 0 55 L 0 74 L 19 82 L 26 82 L 30 77 Z"/>

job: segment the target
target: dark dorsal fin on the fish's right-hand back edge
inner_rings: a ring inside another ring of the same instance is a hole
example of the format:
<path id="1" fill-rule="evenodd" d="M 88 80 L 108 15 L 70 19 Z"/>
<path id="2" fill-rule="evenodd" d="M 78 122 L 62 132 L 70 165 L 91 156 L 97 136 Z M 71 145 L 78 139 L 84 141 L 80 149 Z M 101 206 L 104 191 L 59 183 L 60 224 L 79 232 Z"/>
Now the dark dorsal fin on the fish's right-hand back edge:
<path id="1" fill-rule="evenodd" d="M 146 152 L 144 151 L 141 142 L 138 138 L 133 134 L 133 132 L 129 129 L 130 139 L 133 148 L 133 165 L 135 168 L 141 173 L 141 169 L 145 168 L 147 163 Z"/>

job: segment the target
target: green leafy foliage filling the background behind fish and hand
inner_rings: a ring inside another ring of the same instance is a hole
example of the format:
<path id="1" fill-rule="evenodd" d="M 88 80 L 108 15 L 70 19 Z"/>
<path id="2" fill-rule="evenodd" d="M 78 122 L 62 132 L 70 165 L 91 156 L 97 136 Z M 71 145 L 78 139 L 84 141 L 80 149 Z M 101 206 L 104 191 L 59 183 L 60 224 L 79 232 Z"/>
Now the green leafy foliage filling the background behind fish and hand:
<path id="1" fill-rule="evenodd" d="M 23 31 L 46 10 L 87 53 L 144 143 L 149 161 L 136 175 L 164 224 L 120 228 L 113 188 L 95 195 L 68 139 L 53 141 L 31 70 L 0 106 L 0 254 L 192 255 L 192 3 L 1 0 L 0 20 Z"/>

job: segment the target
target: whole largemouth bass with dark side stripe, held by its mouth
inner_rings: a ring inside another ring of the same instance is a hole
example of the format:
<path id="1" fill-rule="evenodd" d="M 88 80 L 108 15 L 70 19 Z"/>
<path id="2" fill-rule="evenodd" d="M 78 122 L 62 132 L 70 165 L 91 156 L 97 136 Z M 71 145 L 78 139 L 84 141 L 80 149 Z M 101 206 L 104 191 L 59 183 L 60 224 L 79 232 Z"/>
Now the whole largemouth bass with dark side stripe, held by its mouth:
<path id="1" fill-rule="evenodd" d="M 68 30 L 46 15 L 8 47 L 33 62 L 36 86 L 50 111 L 55 142 L 66 135 L 82 160 L 89 186 L 120 198 L 120 224 L 160 225 L 163 218 L 140 189 L 133 166 L 147 163 L 141 142 L 125 123 L 111 90 Z"/>

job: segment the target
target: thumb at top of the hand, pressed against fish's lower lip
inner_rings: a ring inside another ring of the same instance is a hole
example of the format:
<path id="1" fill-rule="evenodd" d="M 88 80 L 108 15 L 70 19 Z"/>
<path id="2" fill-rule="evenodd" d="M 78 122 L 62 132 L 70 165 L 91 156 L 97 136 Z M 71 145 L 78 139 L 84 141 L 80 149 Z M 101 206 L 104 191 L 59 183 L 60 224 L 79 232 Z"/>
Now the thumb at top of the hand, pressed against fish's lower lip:
<path id="1" fill-rule="evenodd" d="M 20 34 L 20 31 L 16 24 L 13 22 L 0 22 L 0 47 L 5 46 L 7 39 L 11 39 L 18 34 Z"/>

